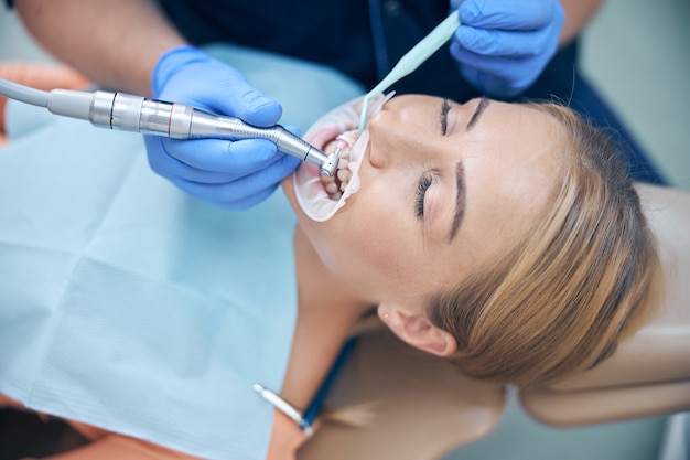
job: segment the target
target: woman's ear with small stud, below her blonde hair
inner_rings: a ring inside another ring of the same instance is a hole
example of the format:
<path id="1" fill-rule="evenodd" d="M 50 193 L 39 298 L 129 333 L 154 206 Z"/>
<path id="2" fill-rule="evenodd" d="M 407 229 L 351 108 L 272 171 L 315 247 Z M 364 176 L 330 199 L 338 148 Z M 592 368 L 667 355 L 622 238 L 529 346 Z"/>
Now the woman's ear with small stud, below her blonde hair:
<path id="1" fill-rule="evenodd" d="M 419 311 L 381 303 L 378 315 L 398 338 L 419 350 L 436 356 L 449 356 L 457 347 L 453 335 L 436 328 Z"/>

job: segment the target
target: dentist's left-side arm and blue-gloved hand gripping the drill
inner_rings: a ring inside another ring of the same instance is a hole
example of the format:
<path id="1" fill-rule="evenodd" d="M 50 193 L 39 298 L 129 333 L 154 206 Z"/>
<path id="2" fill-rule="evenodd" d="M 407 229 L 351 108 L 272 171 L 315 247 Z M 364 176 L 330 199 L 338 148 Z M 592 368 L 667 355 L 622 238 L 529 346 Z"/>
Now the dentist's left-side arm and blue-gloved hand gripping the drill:
<path id="1" fill-rule="evenodd" d="M 250 125 L 276 125 L 282 107 L 234 67 L 188 46 L 152 0 L 15 0 L 50 53 L 114 90 L 187 104 Z M 262 139 L 147 136 L 151 169 L 188 194 L 241 210 L 267 199 L 299 160 Z"/>

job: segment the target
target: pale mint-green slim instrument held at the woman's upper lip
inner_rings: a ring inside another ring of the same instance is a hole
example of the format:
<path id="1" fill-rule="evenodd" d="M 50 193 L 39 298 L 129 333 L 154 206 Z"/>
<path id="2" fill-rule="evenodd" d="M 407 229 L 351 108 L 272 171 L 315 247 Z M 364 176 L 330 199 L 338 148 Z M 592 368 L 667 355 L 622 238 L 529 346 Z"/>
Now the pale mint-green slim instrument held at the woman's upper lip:
<path id="1" fill-rule="evenodd" d="M 362 113 L 359 114 L 359 133 L 364 131 L 367 118 L 367 106 L 369 100 L 384 93 L 393 83 L 403 76 L 414 72 L 424 61 L 435 53 L 445 42 L 448 42 L 455 30 L 460 28 L 460 17 L 457 12 L 452 12 L 448 18 L 436 25 L 427 36 L 417 43 L 410 51 L 405 53 L 396 66 L 381 79 L 381 82 L 364 96 L 362 100 Z"/>

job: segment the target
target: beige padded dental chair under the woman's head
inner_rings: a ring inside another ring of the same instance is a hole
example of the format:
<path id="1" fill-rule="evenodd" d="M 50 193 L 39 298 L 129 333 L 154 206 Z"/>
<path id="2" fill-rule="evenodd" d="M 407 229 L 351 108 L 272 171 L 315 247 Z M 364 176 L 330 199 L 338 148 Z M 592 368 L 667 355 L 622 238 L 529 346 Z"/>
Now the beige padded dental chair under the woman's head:
<path id="1" fill-rule="evenodd" d="M 648 324 L 601 366 L 518 393 L 541 424 L 579 427 L 690 410 L 690 193 L 638 185 L 661 254 L 667 295 Z M 366 429 L 325 424 L 299 452 L 316 459 L 440 459 L 498 424 L 506 391 L 416 352 L 388 330 L 364 334 L 326 405 L 370 403 Z"/>

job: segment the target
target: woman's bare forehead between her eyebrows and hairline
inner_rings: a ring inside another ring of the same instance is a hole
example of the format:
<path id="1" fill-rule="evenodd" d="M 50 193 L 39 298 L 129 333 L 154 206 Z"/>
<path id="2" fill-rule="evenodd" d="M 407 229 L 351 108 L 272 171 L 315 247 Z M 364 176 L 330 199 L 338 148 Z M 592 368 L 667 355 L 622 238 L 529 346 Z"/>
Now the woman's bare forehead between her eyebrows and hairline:
<path id="1" fill-rule="evenodd" d="M 542 217 L 563 163 L 563 135 L 549 114 L 495 103 L 466 151 L 466 213 L 459 238 L 478 261 L 517 243 Z M 483 126 L 482 126 L 483 125 Z"/>

